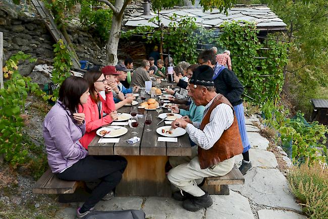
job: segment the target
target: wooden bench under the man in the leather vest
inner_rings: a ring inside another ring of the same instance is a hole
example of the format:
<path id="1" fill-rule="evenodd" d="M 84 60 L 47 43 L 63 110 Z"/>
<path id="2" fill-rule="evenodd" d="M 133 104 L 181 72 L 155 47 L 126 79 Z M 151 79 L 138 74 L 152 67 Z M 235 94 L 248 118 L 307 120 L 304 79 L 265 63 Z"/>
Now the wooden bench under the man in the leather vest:
<path id="1" fill-rule="evenodd" d="M 210 195 L 229 195 L 228 185 L 241 185 L 245 183 L 245 178 L 239 169 L 233 168 L 227 175 L 222 177 L 207 177 L 204 186 L 207 185 L 207 192 Z"/>

